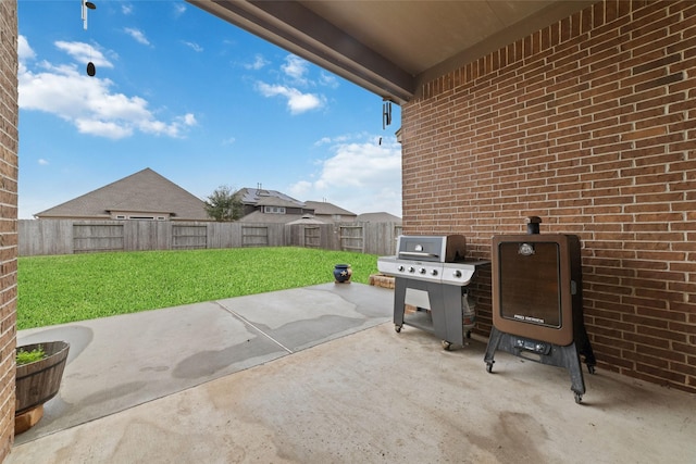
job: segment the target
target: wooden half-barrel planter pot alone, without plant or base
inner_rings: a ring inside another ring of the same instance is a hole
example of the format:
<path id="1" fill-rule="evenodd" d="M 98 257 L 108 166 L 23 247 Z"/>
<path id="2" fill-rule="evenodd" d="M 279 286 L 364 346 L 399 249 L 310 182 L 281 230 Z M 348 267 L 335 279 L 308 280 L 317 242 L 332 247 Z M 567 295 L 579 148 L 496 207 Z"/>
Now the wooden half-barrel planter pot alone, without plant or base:
<path id="1" fill-rule="evenodd" d="M 17 351 L 32 351 L 39 348 L 39 346 L 44 348 L 47 354 L 46 358 L 17 366 L 15 416 L 22 415 L 46 403 L 55 397 L 61 387 L 70 343 L 64 341 L 48 341 L 44 343 L 25 344 L 16 349 Z"/>

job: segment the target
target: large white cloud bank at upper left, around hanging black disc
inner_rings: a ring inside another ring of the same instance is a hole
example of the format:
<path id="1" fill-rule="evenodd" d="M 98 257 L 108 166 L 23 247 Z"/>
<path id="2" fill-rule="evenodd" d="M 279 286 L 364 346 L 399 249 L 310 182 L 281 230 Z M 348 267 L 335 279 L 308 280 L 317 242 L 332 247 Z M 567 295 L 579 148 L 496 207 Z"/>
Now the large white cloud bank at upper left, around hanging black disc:
<path id="1" fill-rule="evenodd" d="M 77 62 L 84 62 L 89 50 L 92 50 L 97 73 L 100 66 L 113 66 L 87 43 L 55 45 Z M 114 92 L 111 89 L 113 81 L 108 78 L 89 77 L 75 64 L 53 65 L 41 62 L 37 70 L 29 70 L 26 61 L 22 61 L 17 78 L 22 110 L 54 114 L 73 124 L 82 134 L 120 139 L 139 130 L 183 137 L 187 127 L 196 125 L 196 117 L 190 113 L 175 117 L 171 123 L 157 120 L 149 110 L 147 100 L 138 96 L 128 97 Z"/>

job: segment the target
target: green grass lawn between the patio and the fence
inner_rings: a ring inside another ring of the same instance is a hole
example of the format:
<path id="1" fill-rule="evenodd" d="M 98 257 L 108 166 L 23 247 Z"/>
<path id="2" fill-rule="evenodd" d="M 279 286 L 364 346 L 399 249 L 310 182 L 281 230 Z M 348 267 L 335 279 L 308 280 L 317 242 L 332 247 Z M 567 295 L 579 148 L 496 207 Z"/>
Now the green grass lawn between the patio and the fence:
<path id="1" fill-rule="evenodd" d="M 377 272 L 376 255 L 288 247 L 24 256 L 17 329 L 330 283 L 339 263 Z"/>

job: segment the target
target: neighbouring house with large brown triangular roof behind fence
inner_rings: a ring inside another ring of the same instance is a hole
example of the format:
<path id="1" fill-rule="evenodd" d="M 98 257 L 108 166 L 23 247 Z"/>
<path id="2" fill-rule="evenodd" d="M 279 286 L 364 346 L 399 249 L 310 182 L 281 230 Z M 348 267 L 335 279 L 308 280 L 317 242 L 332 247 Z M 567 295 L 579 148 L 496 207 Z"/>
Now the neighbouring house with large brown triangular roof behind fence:
<path id="1" fill-rule="evenodd" d="M 35 214 L 38 220 L 213 221 L 204 202 L 149 167 Z"/>

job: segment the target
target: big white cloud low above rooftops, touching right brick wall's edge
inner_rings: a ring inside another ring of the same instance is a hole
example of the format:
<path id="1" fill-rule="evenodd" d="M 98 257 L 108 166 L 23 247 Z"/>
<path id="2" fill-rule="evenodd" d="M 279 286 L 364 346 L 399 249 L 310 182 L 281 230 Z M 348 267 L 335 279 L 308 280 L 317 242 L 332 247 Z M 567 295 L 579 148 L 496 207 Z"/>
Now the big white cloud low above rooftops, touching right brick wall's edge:
<path id="1" fill-rule="evenodd" d="M 401 215 L 401 146 L 394 139 L 337 143 L 320 162 L 314 180 L 301 179 L 289 195 L 326 201 L 353 213 Z"/>

